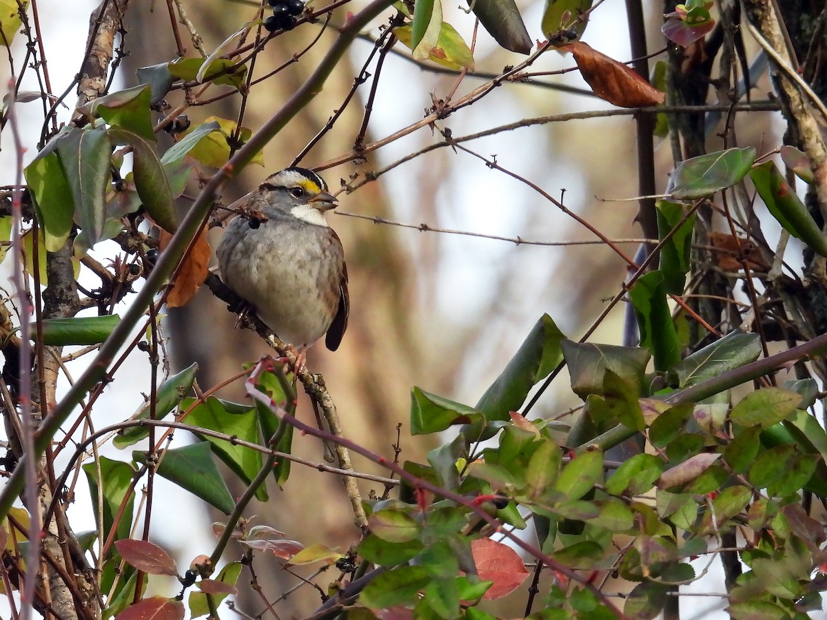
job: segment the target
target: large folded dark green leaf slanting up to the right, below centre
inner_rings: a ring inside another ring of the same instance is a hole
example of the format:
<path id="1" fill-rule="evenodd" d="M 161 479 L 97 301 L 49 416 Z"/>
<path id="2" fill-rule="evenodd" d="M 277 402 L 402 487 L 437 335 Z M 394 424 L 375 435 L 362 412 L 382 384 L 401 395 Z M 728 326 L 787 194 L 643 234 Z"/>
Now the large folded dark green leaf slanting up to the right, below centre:
<path id="1" fill-rule="evenodd" d="M 565 338 L 552 317 L 547 314 L 540 317 L 500 376 L 476 403 L 476 410 L 486 421 L 509 420 L 509 413 L 523 406 L 529 390 L 560 364 L 560 346 Z M 480 425 L 462 429 L 463 436 L 474 440 L 480 437 L 480 432 Z M 482 437 L 487 438 L 493 432 L 493 429 L 483 432 Z"/>

